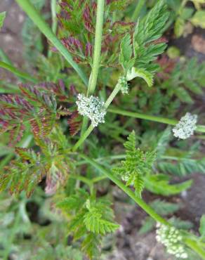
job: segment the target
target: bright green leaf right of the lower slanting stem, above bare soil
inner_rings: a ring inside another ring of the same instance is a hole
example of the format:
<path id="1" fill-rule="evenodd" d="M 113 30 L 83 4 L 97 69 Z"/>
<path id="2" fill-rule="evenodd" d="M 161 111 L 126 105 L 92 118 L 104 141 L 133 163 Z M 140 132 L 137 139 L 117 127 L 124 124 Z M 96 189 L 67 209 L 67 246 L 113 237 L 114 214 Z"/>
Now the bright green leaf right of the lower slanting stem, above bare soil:
<path id="1" fill-rule="evenodd" d="M 192 185 L 192 180 L 183 183 L 169 184 L 169 177 L 164 174 L 155 174 L 145 176 L 145 188 L 154 194 L 175 195 L 187 190 Z"/>

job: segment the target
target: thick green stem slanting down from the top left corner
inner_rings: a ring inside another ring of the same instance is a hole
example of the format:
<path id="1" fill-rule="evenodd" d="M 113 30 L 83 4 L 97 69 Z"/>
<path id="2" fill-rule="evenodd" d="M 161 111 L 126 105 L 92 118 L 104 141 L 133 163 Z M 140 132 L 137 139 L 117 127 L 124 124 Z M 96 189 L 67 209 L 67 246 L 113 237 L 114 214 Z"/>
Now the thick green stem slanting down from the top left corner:
<path id="1" fill-rule="evenodd" d="M 86 77 L 86 74 L 81 70 L 81 68 L 77 65 L 77 63 L 72 60 L 72 56 L 67 51 L 67 48 L 63 46 L 60 42 L 60 40 L 53 34 L 50 27 L 48 27 L 47 23 L 44 21 L 43 18 L 41 18 L 41 15 L 37 11 L 37 9 L 30 3 L 29 0 L 15 0 L 19 6 L 22 8 L 25 13 L 29 16 L 29 18 L 34 22 L 37 27 L 39 27 L 39 30 L 48 38 L 49 41 L 55 46 L 55 48 L 60 51 L 62 56 L 67 60 L 68 63 L 74 68 L 74 70 L 79 74 L 79 77 L 82 79 L 84 84 L 88 84 L 88 79 Z"/>

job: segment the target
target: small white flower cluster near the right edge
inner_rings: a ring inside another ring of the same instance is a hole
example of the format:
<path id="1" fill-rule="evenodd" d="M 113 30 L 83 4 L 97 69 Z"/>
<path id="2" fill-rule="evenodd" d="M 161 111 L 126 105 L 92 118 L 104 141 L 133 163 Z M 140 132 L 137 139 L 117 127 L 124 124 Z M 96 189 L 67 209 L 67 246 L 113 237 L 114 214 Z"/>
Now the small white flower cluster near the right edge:
<path id="1" fill-rule="evenodd" d="M 186 113 L 184 117 L 180 119 L 180 122 L 173 128 L 173 135 L 186 139 L 194 134 L 194 130 L 197 128 L 197 115 L 191 115 Z"/>

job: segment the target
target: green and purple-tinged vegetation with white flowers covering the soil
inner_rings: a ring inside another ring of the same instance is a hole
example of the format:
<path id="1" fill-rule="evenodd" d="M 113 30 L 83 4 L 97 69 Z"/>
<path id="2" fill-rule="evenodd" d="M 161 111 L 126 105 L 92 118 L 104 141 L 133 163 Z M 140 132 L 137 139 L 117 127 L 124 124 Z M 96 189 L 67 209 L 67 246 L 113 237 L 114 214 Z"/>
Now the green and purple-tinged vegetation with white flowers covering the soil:
<path id="1" fill-rule="evenodd" d="M 182 36 L 187 22 L 203 28 L 205 2 L 51 0 L 47 21 L 43 0 L 16 2 L 28 16 L 27 72 L 1 50 L 0 67 L 19 84 L 0 83 L 0 257 L 100 259 L 120 228 L 117 186 L 147 213 L 139 233 L 157 223 L 169 254 L 205 259 L 204 216 L 193 233 L 165 200 L 192 186 L 183 176 L 205 173 L 205 122 L 193 105 L 205 63 L 171 58 L 164 36 Z"/>

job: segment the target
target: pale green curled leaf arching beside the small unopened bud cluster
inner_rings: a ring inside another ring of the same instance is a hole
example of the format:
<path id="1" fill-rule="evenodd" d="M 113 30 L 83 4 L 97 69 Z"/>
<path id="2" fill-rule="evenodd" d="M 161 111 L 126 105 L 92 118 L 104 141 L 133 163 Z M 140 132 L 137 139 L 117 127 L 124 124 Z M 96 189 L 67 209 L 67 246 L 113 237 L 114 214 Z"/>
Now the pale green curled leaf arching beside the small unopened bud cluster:
<path id="1" fill-rule="evenodd" d="M 144 79 L 145 82 L 147 82 L 148 86 L 153 85 L 154 77 L 153 77 L 152 73 L 148 72 L 147 70 L 145 70 L 143 68 L 138 69 L 137 67 L 132 67 L 132 69 L 128 71 L 128 73 L 126 75 L 127 81 L 134 79 L 135 77 L 140 77 L 140 78 Z"/>

